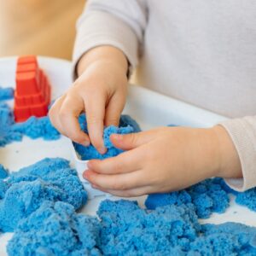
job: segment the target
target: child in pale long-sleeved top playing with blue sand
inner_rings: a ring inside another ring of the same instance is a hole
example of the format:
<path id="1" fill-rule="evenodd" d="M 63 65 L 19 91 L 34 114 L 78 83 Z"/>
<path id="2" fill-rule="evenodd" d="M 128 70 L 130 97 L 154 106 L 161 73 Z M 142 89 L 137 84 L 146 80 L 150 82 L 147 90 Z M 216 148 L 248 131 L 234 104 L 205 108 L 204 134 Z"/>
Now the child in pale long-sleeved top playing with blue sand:
<path id="1" fill-rule="evenodd" d="M 231 118 L 208 129 L 113 135 L 128 151 L 90 160 L 84 178 L 93 187 L 135 196 L 212 176 L 239 191 L 256 185 L 255 14 L 251 0 L 88 1 L 73 54 L 77 79 L 49 113 L 61 133 L 103 154 L 103 126 L 118 125 L 137 61 L 139 84 Z M 89 135 L 79 130 L 82 111 Z"/>

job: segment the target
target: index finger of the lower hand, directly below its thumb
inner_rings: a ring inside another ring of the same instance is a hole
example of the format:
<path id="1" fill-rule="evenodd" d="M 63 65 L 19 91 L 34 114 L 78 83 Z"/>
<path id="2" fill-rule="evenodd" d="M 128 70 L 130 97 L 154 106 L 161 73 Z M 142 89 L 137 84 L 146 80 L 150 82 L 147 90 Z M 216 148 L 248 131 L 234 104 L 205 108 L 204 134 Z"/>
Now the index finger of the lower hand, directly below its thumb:
<path id="1" fill-rule="evenodd" d="M 134 172 L 141 169 L 142 159 L 141 152 L 136 148 L 106 160 L 90 160 L 87 167 L 90 171 L 102 174 Z"/>

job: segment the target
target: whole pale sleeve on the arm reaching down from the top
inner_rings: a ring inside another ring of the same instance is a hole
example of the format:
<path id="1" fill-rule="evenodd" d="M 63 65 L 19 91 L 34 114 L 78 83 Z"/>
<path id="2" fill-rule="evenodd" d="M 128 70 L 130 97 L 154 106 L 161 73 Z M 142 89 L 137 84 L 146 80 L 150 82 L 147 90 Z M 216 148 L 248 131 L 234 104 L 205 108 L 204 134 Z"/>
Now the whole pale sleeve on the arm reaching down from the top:
<path id="1" fill-rule="evenodd" d="M 111 45 L 124 52 L 131 67 L 143 43 L 147 24 L 147 5 L 144 0 L 90 0 L 77 22 L 73 50 L 73 78 L 76 65 L 84 53 L 99 45 Z"/>

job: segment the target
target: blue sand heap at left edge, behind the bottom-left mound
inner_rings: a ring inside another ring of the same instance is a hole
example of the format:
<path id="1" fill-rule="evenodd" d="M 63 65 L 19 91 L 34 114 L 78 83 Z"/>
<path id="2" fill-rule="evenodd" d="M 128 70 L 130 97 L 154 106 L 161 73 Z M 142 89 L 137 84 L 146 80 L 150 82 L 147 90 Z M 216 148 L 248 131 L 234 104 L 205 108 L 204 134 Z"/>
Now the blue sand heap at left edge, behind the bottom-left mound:
<path id="1" fill-rule="evenodd" d="M 3 232 L 15 230 L 20 220 L 35 212 L 44 201 L 64 201 L 75 209 L 87 201 L 77 172 L 67 160 L 60 158 L 44 159 L 10 174 L 5 183 L 0 183 L 1 194 L 0 230 Z"/>

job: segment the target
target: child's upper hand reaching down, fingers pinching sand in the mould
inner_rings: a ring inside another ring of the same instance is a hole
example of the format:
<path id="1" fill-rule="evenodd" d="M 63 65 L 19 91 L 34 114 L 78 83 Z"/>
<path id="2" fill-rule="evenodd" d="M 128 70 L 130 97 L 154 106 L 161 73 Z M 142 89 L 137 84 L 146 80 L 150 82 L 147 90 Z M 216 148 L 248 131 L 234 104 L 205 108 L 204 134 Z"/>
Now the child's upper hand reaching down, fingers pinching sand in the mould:
<path id="1" fill-rule="evenodd" d="M 125 106 L 127 60 L 119 49 L 100 46 L 90 49 L 78 65 L 79 79 L 55 101 L 49 119 L 55 128 L 74 142 L 92 143 L 104 154 L 104 125 L 119 125 Z M 89 136 L 80 130 L 78 117 L 85 112 Z"/>

